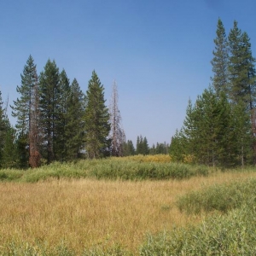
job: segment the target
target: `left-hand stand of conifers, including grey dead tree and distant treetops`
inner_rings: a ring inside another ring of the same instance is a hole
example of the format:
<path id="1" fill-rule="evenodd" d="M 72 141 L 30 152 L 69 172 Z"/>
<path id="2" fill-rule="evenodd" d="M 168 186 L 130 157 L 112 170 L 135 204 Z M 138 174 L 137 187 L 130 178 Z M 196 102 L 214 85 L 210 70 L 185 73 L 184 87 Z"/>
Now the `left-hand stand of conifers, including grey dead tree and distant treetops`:
<path id="1" fill-rule="evenodd" d="M 38 167 L 53 161 L 83 158 L 167 154 L 159 143 L 152 151 L 144 137 L 135 149 L 125 139 L 118 107 L 117 84 L 109 108 L 104 87 L 92 72 L 84 93 L 77 79 L 71 82 L 65 69 L 48 60 L 38 75 L 32 55 L 20 74 L 19 97 L 10 105 L 16 119 L 13 127 L 0 92 L 0 167 Z M 165 145 L 167 147 L 168 145 Z"/>

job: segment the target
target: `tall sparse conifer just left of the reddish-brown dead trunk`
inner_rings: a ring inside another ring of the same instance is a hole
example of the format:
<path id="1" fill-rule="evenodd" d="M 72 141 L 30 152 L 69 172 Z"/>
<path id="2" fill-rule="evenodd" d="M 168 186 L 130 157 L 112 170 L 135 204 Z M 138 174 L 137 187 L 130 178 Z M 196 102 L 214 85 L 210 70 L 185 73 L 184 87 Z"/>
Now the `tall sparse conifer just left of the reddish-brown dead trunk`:
<path id="1" fill-rule="evenodd" d="M 31 131 L 32 117 L 32 90 L 38 84 L 37 67 L 34 64 L 32 55 L 29 55 L 23 74 L 20 74 L 21 85 L 16 90 L 20 98 L 14 101 L 12 115 L 17 118 L 16 129 L 19 132 L 20 154 L 24 160 L 24 167 L 28 164 L 30 141 L 29 133 Z"/>

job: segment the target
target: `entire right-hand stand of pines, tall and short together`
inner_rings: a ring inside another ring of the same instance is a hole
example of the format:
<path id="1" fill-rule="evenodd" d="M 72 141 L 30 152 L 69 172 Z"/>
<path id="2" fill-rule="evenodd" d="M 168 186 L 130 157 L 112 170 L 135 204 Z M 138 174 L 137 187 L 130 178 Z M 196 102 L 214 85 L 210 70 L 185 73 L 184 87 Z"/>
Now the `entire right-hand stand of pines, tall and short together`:
<path id="1" fill-rule="evenodd" d="M 254 165 L 256 80 L 250 38 L 236 20 L 226 36 L 218 19 L 214 44 L 212 84 L 194 104 L 189 100 L 170 154 L 177 161 L 189 155 L 192 162 L 209 166 Z"/>

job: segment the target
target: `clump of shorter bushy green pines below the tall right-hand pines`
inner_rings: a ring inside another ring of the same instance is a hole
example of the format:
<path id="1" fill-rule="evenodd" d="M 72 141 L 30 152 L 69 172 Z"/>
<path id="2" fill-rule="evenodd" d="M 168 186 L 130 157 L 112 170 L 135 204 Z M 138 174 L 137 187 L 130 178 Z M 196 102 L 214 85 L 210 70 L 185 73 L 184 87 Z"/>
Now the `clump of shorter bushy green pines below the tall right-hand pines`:
<path id="1" fill-rule="evenodd" d="M 210 166 L 230 166 L 234 162 L 234 124 L 231 108 L 224 93 L 219 97 L 210 88 L 198 96 L 195 107 L 189 102 L 184 121 L 183 134 L 176 134 L 171 153 L 182 159 L 182 154 L 191 154 L 194 160 Z"/>

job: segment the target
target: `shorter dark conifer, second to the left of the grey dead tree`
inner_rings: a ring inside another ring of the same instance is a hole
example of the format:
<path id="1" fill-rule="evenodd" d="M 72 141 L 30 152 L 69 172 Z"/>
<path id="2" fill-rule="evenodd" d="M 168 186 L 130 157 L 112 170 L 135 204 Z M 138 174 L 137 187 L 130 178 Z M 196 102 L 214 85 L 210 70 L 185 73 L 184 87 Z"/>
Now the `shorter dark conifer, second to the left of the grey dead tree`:
<path id="1" fill-rule="evenodd" d="M 73 79 L 67 98 L 67 127 L 65 130 L 67 160 L 77 160 L 83 148 L 84 136 L 84 93 L 77 79 Z"/>

